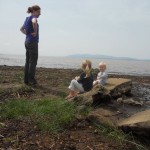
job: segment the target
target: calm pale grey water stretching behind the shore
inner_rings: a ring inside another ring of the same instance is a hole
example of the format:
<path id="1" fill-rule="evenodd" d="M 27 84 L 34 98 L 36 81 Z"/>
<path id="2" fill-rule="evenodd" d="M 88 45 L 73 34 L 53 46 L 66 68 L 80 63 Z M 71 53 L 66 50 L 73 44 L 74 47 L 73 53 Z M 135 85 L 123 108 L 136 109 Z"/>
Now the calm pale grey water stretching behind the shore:
<path id="1" fill-rule="evenodd" d="M 45 68 L 80 68 L 82 58 L 69 57 L 39 57 L 38 67 Z M 90 59 L 93 68 L 97 68 L 100 61 L 107 64 L 108 73 L 145 75 L 150 76 L 150 61 L 140 60 L 113 60 L 113 59 Z M 24 66 L 25 56 L 0 54 L 0 65 Z"/>

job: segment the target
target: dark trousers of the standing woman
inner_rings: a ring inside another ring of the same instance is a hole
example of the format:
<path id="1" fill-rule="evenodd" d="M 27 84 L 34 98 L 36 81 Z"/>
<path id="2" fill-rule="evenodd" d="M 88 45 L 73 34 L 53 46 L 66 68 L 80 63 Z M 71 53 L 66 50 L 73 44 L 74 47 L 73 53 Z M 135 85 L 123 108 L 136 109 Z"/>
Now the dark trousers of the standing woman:
<path id="1" fill-rule="evenodd" d="M 24 70 L 24 83 L 36 84 L 35 70 L 38 60 L 38 42 L 25 42 L 26 63 Z"/>

